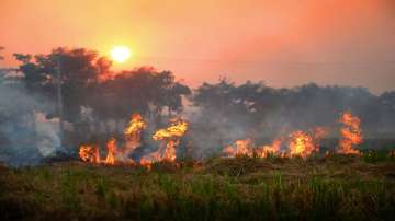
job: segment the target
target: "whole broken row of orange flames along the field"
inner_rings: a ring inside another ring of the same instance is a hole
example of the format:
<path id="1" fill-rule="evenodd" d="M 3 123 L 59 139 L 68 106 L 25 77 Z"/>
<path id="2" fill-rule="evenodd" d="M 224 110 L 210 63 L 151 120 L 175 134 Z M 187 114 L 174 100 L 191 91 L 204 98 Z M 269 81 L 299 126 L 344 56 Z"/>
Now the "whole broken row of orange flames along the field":
<path id="1" fill-rule="evenodd" d="M 337 152 L 346 154 L 361 154 L 354 150 L 353 146 L 363 141 L 362 131 L 360 129 L 361 120 L 352 116 L 350 113 L 343 113 L 340 121 L 341 139 Z M 154 162 L 167 161 L 174 162 L 177 159 L 177 147 L 180 144 L 181 138 L 185 135 L 189 124 L 182 119 L 172 119 L 170 126 L 165 129 L 157 130 L 151 138 L 160 142 L 157 151 L 144 155 L 140 165 L 150 167 Z M 110 139 L 106 143 L 108 154 L 105 160 L 100 159 L 98 146 L 80 146 L 79 155 L 84 162 L 115 164 L 116 162 L 134 163 L 129 159 L 132 153 L 142 144 L 142 136 L 147 128 L 147 123 L 142 115 L 132 115 L 131 121 L 124 130 L 125 147 L 117 148 L 116 140 Z M 289 135 L 287 142 L 284 137 L 274 139 L 271 144 L 264 144 L 255 148 L 251 139 L 236 140 L 233 144 L 223 149 L 223 153 L 229 158 L 238 155 L 268 158 L 276 155 L 280 158 L 301 156 L 308 158 L 315 152 L 319 152 L 319 141 L 327 136 L 327 129 L 323 127 L 314 128 L 309 131 L 296 130 Z M 287 143 L 287 150 L 281 150 L 283 143 Z M 325 155 L 328 155 L 327 151 Z M 394 155 L 394 153 L 392 153 Z"/>

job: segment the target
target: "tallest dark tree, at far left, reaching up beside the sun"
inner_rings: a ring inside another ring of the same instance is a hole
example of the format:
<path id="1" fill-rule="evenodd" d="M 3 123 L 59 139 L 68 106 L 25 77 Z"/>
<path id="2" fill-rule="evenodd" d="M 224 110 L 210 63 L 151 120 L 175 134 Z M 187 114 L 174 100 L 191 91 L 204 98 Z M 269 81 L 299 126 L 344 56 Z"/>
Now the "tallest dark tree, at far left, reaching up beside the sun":
<path id="1" fill-rule="evenodd" d="M 80 108 L 90 105 L 99 77 L 108 72 L 111 62 L 84 48 L 56 48 L 48 55 L 14 54 L 21 61 L 20 70 L 32 93 L 56 101 L 56 71 L 60 69 L 64 113 L 68 121 L 78 120 Z"/>

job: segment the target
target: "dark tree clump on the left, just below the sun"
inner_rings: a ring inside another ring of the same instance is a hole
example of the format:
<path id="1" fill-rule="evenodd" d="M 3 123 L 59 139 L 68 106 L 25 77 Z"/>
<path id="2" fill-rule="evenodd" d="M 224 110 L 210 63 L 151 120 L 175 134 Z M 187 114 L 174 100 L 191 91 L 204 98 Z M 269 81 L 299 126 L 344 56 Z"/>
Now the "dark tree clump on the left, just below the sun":
<path id="1" fill-rule="evenodd" d="M 190 93 L 188 86 L 174 81 L 170 71 L 142 67 L 115 73 L 110 60 L 84 48 L 56 48 L 48 55 L 14 54 L 14 57 L 21 62 L 26 89 L 50 101 L 57 98 L 60 71 L 64 117 L 70 123 L 83 120 L 82 106 L 93 108 L 94 116 L 103 119 L 127 118 L 132 112 L 158 115 L 165 107 L 178 113 L 182 107 L 181 95 Z"/>

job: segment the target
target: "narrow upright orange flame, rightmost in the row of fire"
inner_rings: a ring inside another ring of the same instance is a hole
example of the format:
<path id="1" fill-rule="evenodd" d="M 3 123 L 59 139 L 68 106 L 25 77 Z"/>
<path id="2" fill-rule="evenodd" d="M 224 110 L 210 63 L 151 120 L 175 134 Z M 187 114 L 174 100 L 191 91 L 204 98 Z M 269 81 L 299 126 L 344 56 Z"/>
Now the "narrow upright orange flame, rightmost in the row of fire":
<path id="1" fill-rule="evenodd" d="M 351 113 L 346 112 L 341 115 L 340 123 L 343 125 L 340 129 L 341 139 L 339 141 L 338 153 L 361 154 L 353 146 L 363 142 L 361 120 Z"/>

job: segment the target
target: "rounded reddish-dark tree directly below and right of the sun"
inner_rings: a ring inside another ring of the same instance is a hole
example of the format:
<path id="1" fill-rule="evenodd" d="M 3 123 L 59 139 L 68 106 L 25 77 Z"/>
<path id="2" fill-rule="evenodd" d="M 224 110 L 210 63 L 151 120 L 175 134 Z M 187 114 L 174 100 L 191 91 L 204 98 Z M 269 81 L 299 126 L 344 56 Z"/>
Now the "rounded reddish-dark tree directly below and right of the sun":
<path id="1" fill-rule="evenodd" d="M 165 107 L 169 113 L 181 112 L 181 97 L 191 93 L 170 71 L 158 72 L 153 67 L 123 71 L 99 88 L 93 106 L 103 118 L 125 118 L 134 112 L 160 118 Z"/>

